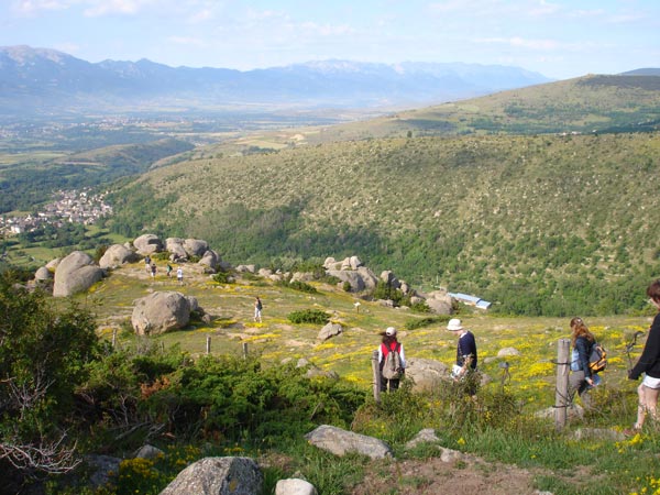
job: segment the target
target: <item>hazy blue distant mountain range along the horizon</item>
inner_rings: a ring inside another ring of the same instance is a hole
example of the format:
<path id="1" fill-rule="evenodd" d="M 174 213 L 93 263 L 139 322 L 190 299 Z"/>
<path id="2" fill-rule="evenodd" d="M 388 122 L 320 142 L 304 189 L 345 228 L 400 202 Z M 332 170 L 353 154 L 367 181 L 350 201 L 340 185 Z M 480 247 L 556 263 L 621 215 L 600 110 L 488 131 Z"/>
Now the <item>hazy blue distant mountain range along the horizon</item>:
<path id="1" fill-rule="evenodd" d="M 0 117 L 84 112 L 432 105 L 550 81 L 517 67 L 324 61 L 240 72 L 147 59 L 89 63 L 0 47 Z"/>

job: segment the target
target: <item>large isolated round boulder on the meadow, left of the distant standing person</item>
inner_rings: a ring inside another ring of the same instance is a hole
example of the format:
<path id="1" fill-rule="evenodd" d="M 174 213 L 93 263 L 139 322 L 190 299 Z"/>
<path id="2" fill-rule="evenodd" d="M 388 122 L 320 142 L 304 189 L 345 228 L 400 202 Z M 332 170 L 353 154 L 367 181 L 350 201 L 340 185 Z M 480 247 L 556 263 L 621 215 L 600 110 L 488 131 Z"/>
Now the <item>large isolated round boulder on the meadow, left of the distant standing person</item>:
<path id="1" fill-rule="evenodd" d="M 190 321 L 190 301 L 180 293 L 153 293 L 135 301 L 131 323 L 140 336 L 184 328 Z"/>

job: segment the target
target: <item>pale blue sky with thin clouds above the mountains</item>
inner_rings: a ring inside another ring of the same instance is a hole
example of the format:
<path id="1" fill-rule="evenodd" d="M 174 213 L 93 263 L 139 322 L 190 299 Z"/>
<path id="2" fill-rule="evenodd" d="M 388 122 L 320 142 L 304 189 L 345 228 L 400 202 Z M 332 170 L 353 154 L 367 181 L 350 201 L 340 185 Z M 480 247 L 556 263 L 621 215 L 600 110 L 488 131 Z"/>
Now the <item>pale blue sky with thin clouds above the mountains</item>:
<path id="1" fill-rule="evenodd" d="M 464 62 L 565 79 L 660 67 L 658 0 L 0 0 L 0 46 L 240 70 Z"/>

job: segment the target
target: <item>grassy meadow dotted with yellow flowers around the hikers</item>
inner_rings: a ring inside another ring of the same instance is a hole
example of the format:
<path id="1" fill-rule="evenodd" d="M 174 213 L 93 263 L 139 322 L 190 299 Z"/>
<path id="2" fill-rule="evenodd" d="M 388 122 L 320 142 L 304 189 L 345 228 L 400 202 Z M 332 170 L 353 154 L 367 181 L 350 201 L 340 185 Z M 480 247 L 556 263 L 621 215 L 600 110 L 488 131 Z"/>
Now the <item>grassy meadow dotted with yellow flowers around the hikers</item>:
<path id="1" fill-rule="evenodd" d="M 444 329 L 444 323 L 407 330 L 407 326 L 414 327 L 413 321 L 428 315 L 360 300 L 324 283 L 312 283 L 316 294 L 296 292 L 255 276 L 239 278 L 235 284 L 218 284 L 190 264 L 184 265 L 184 285 L 179 286 L 175 278 L 166 277 L 161 262 L 156 278 L 151 279 L 142 263 L 124 265 L 88 294 L 77 297 L 97 315 L 102 338 L 111 339 L 117 329 L 120 348 L 140 346 L 148 341 L 157 348 L 178 348 L 194 360 L 201 360 L 207 337 L 210 337 L 211 354 L 240 358 L 246 344 L 249 355 L 266 367 L 277 367 L 289 359 L 307 359 L 322 371 L 339 374 L 340 382 L 365 393 L 366 402 L 353 418 L 351 428 L 388 442 L 396 460 L 337 458 L 308 446 L 301 438 L 283 438 L 276 447 L 266 447 L 254 438 L 245 438 L 233 447 L 222 442 L 206 447 L 172 446 L 165 460 L 141 466 L 128 461 L 123 464 L 124 475 L 133 476 L 131 483 L 124 479 L 122 485 L 131 487 L 130 493 L 158 493 L 142 485 L 135 490 L 135 479 L 150 480 L 154 473 L 162 472 L 164 463 L 179 459 L 174 455 L 184 458 L 177 461 L 179 466 L 210 454 L 256 457 L 265 465 L 264 493 L 274 493 L 276 480 L 294 472 L 324 495 L 439 493 L 435 492 L 441 490 L 438 476 L 454 476 L 461 472 L 485 476 L 487 481 L 487 474 L 480 470 L 473 473 L 474 466 L 464 461 L 443 468 L 449 469 L 449 473 L 442 475 L 411 475 L 396 468 L 399 461 L 424 465 L 439 458 L 436 448 L 428 444 L 413 450 L 405 448 L 405 442 L 422 428 L 433 428 L 442 447 L 476 454 L 493 463 L 492 475 L 506 470 L 507 464 L 516 465 L 529 475 L 537 490 L 554 494 L 658 493 L 660 477 L 656 466 L 660 432 L 652 424 L 644 433 L 626 440 L 597 436 L 578 440 L 575 437 L 576 431 L 584 428 L 616 432 L 634 422 L 637 383 L 626 378 L 629 365 L 626 344 L 635 332 L 648 329 L 653 316 L 650 308 L 635 316 L 585 318 L 607 348 L 609 366 L 603 374 L 604 383 L 592 392 L 596 409 L 585 413 L 583 419 L 571 420 L 564 430 L 556 431 L 553 417 L 541 419 L 537 413 L 554 404 L 553 360 L 558 341 L 570 337 L 570 318 L 494 317 L 463 307 L 458 316 L 474 332 L 480 369 L 491 377 L 481 388 L 477 400 L 465 400 L 465 396 L 452 392 L 451 385 L 421 394 L 404 385 L 376 405 L 369 397 L 371 356 L 380 343 L 378 332 L 388 326 L 396 327 L 408 360 L 425 358 L 450 365 L 455 356 L 455 336 Z M 128 323 L 133 300 L 153 290 L 178 290 L 195 296 L 213 317 L 212 322 L 207 326 L 194 321 L 185 330 L 136 338 Z M 262 323 L 253 321 L 255 296 L 264 302 Z M 358 300 L 361 302 L 359 311 L 354 306 Z M 287 319 L 292 311 L 311 308 L 327 311 L 331 321 L 342 324 L 343 332 L 319 341 L 320 326 L 294 324 Z M 631 351 L 632 362 L 642 344 L 644 338 Z M 505 348 L 515 348 L 519 355 L 497 358 Z M 501 367 L 504 361 L 509 364 L 508 375 Z M 505 468 L 496 468 L 499 463 Z M 370 474 L 374 472 L 381 473 L 378 476 L 387 486 L 375 487 L 377 482 Z M 600 480 L 597 485 L 586 482 L 585 476 L 592 474 Z M 487 490 L 487 484 L 485 488 L 485 493 L 501 493 Z"/>

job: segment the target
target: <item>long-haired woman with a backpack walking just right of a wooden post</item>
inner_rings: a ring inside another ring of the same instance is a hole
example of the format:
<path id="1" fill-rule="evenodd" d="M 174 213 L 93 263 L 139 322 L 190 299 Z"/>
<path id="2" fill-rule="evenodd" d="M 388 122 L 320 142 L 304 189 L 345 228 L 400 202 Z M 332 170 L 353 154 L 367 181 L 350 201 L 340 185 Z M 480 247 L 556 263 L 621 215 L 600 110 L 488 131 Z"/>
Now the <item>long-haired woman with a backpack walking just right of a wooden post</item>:
<path id="1" fill-rule="evenodd" d="M 596 343 L 596 338 L 588 330 L 582 318 L 575 317 L 571 320 L 571 375 L 569 376 L 569 396 L 571 402 L 575 393 L 580 396 L 582 405 L 591 408 L 591 397 L 588 391 L 601 383 L 597 373 L 593 373 L 588 363 L 592 349 Z"/>

